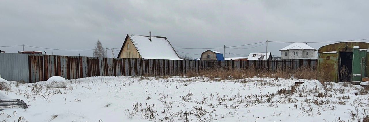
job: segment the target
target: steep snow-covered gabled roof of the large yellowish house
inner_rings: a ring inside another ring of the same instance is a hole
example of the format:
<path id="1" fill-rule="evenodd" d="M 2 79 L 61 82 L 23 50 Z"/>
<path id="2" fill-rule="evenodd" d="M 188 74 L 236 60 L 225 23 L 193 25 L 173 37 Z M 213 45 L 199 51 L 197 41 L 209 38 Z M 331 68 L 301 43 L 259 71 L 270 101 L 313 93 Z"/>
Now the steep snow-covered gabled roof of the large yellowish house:
<path id="1" fill-rule="evenodd" d="M 169 60 L 183 60 L 180 59 L 176 51 L 170 45 L 166 37 L 151 36 L 151 41 L 149 36 L 142 35 L 132 35 L 127 34 L 124 40 L 122 48 L 120 49 L 118 58 L 123 51 L 123 47 L 127 38 L 130 38 L 133 45 L 137 49 L 138 53 L 144 59 L 169 59 Z"/>

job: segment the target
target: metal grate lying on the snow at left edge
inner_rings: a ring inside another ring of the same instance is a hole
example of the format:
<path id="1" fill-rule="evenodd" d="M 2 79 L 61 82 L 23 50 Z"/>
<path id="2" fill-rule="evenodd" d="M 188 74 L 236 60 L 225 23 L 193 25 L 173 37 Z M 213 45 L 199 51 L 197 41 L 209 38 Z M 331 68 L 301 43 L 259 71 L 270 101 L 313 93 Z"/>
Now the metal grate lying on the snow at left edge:
<path id="1" fill-rule="evenodd" d="M 11 108 L 28 108 L 27 104 L 21 99 L 16 100 L 0 100 L 0 111 Z"/>

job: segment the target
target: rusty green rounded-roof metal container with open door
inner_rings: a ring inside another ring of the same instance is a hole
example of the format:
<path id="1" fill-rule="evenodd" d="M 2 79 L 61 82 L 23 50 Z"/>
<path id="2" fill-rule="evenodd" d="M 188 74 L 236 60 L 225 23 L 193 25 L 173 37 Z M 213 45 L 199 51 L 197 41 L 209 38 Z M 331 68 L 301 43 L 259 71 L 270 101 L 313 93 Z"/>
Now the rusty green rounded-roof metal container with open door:
<path id="1" fill-rule="evenodd" d="M 369 43 L 338 42 L 318 49 L 318 78 L 360 84 L 369 77 Z"/>

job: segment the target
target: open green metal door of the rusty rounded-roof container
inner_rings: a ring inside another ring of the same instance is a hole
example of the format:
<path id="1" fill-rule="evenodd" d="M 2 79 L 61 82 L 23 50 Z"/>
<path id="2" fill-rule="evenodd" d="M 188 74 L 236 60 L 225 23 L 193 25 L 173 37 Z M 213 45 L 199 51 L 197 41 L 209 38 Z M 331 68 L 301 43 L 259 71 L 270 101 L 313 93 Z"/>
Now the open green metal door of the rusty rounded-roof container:
<path id="1" fill-rule="evenodd" d="M 354 49 L 352 58 L 352 81 L 361 81 L 365 74 L 366 50 Z"/>

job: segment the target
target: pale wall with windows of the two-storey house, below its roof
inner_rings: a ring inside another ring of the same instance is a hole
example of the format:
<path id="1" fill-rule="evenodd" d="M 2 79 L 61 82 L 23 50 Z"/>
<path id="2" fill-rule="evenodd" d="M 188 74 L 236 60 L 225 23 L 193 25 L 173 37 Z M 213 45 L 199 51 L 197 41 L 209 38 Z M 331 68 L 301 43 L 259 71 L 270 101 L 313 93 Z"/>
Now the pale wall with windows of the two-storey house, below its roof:
<path id="1" fill-rule="evenodd" d="M 295 55 L 297 52 L 297 55 Z M 308 55 L 306 55 L 308 52 Z M 286 56 L 287 53 L 287 56 Z M 289 51 L 281 51 L 281 59 L 297 59 L 297 58 L 312 58 L 315 57 L 314 50 L 289 50 Z"/>

